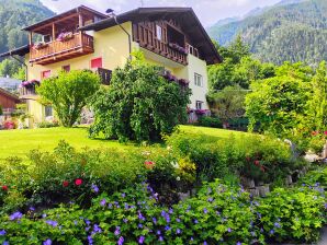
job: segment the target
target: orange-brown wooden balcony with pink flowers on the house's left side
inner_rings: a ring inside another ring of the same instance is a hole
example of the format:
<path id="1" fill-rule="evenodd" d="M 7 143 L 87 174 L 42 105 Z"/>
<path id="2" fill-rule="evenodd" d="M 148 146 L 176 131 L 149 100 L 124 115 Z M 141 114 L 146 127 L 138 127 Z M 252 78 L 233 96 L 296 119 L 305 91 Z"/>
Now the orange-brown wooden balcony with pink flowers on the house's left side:
<path id="1" fill-rule="evenodd" d="M 94 52 L 93 37 L 84 33 L 76 33 L 66 40 L 54 40 L 41 47 L 32 45 L 30 62 L 48 65 Z"/>

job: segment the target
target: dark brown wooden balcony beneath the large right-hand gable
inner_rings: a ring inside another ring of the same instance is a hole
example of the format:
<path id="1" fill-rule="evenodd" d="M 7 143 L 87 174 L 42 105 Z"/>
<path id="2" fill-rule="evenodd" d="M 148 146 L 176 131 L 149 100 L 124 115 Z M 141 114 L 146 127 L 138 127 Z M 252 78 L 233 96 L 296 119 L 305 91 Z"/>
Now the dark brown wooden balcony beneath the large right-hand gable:
<path id="1" fill-rule="evenodd" d="M 188 54 L 187 51 L 181 51 L 178 48 L 171 47 L 167 38 L 159 40 L 156 37 L 155 27 L 135 24 L 133 26 L 134 40 L 139 44 L 140 47 L 164 56 L 170 60 L 173 60 L 183 66 L 188 65 Z M 187 50 L 187 49 L 184 49 Z"/>

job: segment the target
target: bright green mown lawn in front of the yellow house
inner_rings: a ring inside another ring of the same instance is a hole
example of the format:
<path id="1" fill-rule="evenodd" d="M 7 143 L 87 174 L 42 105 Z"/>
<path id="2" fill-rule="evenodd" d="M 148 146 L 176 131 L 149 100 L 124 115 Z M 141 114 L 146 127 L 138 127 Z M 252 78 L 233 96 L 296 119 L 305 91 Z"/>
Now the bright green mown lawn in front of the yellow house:
<path id="1" fill-rule="evenodd" d="M 181 126 L 181 130 L 188 133 L 202 132 L 217 138 L 227 138 L 232 132 L 223 129 L 202 128 L 193 126 Z M 60 140 L 67 141 L 76 149 L 89 148 L 117 148 L 128 150 L 135 148 L 133 143 L 121 144 L 117 141 L 104 139 L 89 139 L 87 128 L 47 128 L 26 130 L 1 130 L 0 131 L 0 160 L 8 156 L 26 158 L 26 154 L 34 149 L 52 151 Z"/>

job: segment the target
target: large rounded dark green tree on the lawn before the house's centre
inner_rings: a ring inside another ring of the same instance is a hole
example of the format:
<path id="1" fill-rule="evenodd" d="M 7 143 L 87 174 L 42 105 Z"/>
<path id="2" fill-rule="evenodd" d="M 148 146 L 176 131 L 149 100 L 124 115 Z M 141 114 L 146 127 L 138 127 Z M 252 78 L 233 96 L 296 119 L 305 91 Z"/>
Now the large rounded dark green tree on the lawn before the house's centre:
<path id="1" fill-rule="evenodd" d="M 190 90 L 166 81 L 158 69 L 138 59 L 116 69 L 111 85 L 94 96 L 95 122 L 90 135 L 103 132 L 120 141 L 157 140 L 185 121 Z"/>

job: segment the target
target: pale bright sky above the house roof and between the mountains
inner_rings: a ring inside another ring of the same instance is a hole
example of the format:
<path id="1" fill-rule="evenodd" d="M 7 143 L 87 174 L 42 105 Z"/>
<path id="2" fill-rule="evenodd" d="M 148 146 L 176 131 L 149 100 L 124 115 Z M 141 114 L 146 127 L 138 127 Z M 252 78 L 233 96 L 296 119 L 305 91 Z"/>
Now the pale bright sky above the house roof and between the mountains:
<path id="1" fill-rule="evenodd" d="M 117 13 L 137 7 L 192 7 L 204 26 L 210 26 L 221 19 L 244 15 L 258 7 L 272 5 L 280 0 L 41 0 L 55 12 L 63 12 L 84 4 L 101 12 L 114 9 Z"/>

